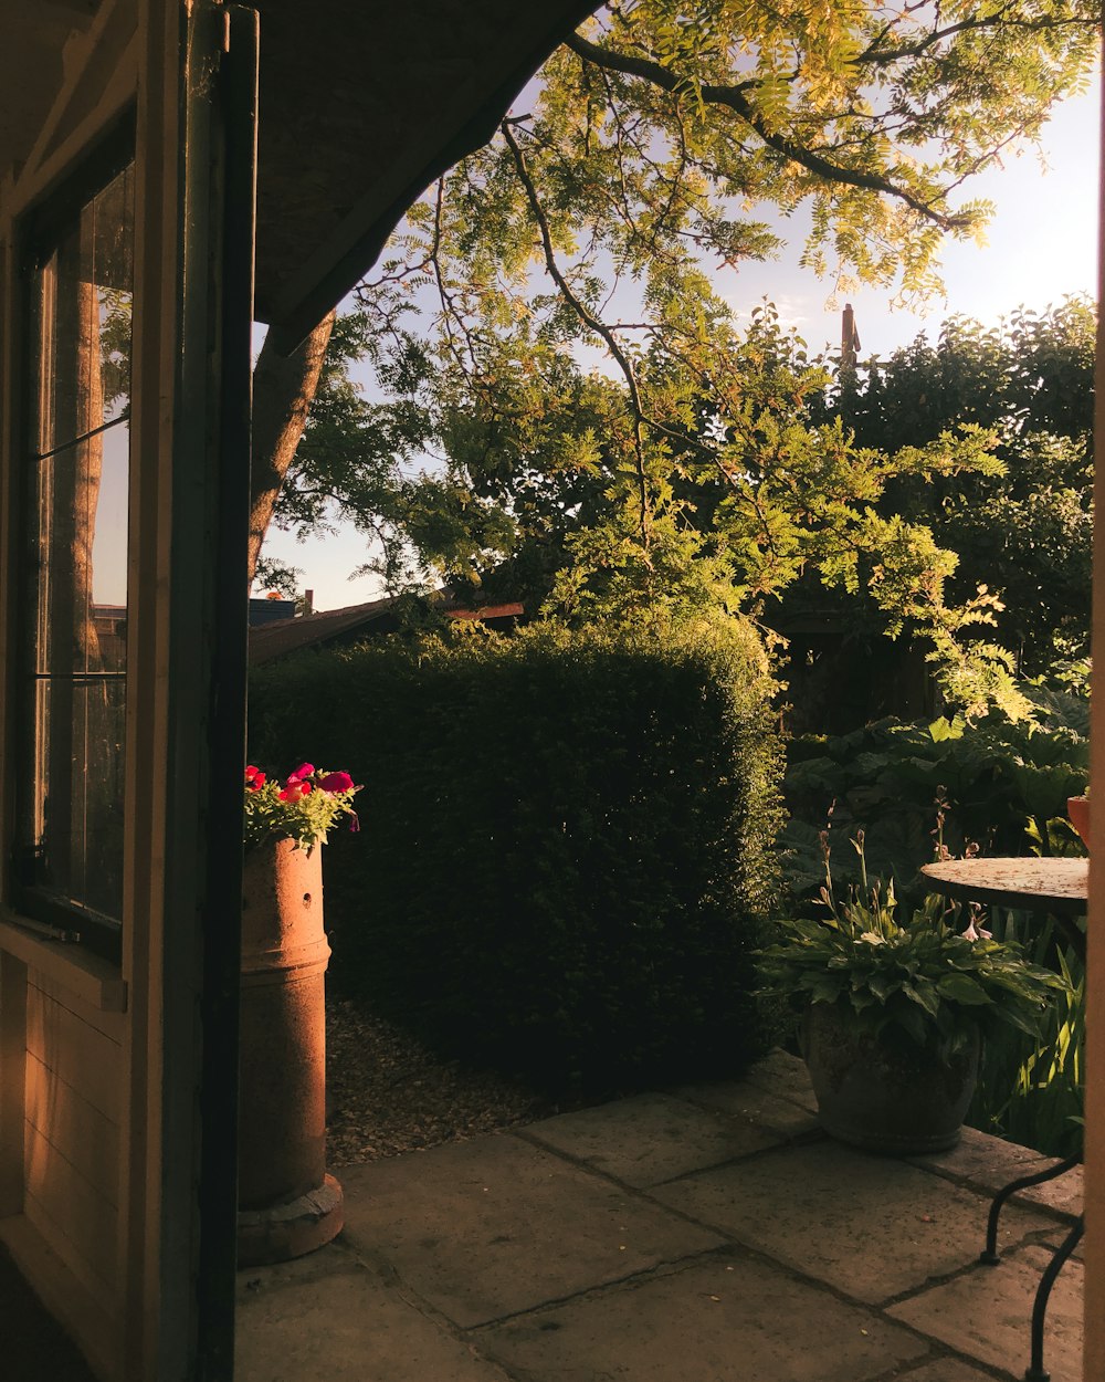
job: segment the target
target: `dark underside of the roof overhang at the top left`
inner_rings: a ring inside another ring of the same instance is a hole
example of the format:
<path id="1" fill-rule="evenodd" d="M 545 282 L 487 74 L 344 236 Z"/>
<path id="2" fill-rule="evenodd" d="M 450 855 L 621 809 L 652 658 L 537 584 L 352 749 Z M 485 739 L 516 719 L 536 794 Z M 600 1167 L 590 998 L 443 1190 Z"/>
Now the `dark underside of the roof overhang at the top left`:
<path id="1" fill-rule="evenodd" d="M 163 0 L 173 3 L 173 0 Z M 417 196 L 485 144 L 597 0 L 254 0 L 261 26 L 257 318 L 293 350 Z M 99 11 L 0 0 L 0 177 L 30 153 Z M 94 51 L 94 50 L 93 50 Z"/>

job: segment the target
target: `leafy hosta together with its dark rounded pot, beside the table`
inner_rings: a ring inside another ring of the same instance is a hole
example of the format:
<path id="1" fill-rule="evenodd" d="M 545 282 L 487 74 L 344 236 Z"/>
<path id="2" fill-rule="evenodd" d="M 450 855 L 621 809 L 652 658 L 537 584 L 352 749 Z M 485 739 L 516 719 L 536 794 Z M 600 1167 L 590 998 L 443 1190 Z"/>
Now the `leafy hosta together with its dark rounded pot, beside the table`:
<path id="1" fill-rule="evenodd" d="M 1039 1032 L 1066 981 L 1014 944 L 961 926 L 961 908 L 930 896 L 898 918 L 892 883 L 833 891 L 826 847 L 826 915 L 778 922 L 760 952 L 765 992 L 801 1010 L 803 1056 L 822 1126 L 840 1142 L 896 1155 L 959 1142 L 981 1042 L 1006 1023 Z"/>

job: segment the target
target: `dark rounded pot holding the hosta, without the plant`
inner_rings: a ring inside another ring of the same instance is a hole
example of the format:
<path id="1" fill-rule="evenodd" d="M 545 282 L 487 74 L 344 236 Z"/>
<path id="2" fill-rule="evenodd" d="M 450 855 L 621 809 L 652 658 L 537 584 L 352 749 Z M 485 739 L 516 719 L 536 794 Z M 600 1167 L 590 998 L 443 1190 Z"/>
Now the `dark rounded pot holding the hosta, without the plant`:
<path id="1" fill-rule="evenodd" d="M 945 1151 L 959 1142 L 978 1079 L 978 1032 L 943 1064 L 925 1048 L 859 1034 L 847 1013 L 814 1003 L 803 1048 L 818 1117 L 832 1137 L 895 1157 Z"/>

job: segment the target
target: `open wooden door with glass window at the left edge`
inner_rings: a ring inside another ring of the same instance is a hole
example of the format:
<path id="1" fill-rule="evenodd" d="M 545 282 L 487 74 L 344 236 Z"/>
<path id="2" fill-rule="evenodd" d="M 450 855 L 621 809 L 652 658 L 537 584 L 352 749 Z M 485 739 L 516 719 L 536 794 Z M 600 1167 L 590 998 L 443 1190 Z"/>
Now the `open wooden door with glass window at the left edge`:
<path id="1" fill-rule="evenodd" d="M 232 1375 L 256 93 L 102 0 L 0 169 L 0 1238 L 134 1382 Z"/>

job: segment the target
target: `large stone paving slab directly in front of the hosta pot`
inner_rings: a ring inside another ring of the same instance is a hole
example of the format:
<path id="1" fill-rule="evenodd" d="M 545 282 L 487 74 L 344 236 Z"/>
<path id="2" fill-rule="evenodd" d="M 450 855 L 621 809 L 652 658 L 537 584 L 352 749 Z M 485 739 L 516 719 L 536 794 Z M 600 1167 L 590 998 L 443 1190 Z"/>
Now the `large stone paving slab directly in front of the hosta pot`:
<path id="1" fill-rule="evenodd" d="M 876 1303 L 977 1260 L 985 1201 L 902 1161 L 832 1142 L 704 1171 L 652 1195 L 856 1300 Z M 1054 1220 L 1001 1215 L 999 1247 Z"/>

